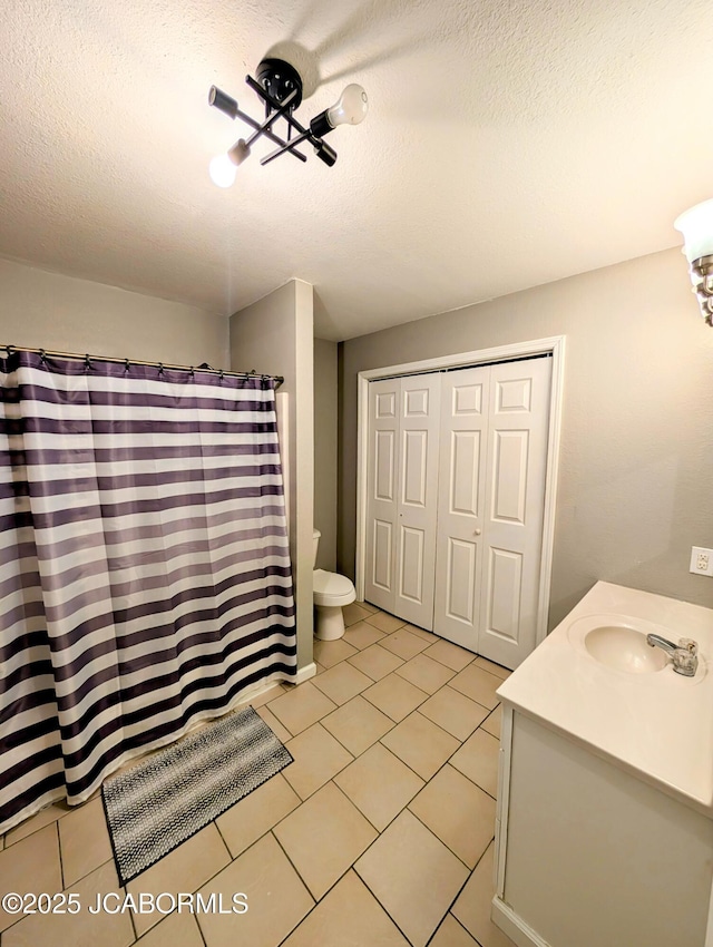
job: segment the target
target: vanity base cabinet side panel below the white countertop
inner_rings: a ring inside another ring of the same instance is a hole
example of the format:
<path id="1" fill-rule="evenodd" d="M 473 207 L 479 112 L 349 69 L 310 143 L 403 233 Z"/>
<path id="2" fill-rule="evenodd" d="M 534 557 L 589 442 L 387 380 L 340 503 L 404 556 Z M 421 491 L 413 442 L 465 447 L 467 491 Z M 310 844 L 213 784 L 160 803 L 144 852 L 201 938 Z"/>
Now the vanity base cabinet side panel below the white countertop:
<path id="1" fill-rule="evenodd" d="M 520 947 L 703 947 L 713 821 L 511 707 L 502 740 L 496 924 Z"/>

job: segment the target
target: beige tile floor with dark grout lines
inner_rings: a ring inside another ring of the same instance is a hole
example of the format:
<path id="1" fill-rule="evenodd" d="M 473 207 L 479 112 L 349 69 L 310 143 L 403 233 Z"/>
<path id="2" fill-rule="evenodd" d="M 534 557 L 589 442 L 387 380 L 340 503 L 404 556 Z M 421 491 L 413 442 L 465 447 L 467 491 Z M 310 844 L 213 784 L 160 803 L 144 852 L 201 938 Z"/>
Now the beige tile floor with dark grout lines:
<path id="1" fill-rule="evenodd" d="M 344 637 L 315 642 L 316 677 L 252 701 L 294 763 L 126 889 L 99 798 L 0 839 L 2 894 L 80 905 L 0 910 L 0 947 L 509 947 L 489 919 L 508 672 L 364 603 L 344 611 Z M 222 895 L 224 912 L 89 910 L 127 892 Z"/>

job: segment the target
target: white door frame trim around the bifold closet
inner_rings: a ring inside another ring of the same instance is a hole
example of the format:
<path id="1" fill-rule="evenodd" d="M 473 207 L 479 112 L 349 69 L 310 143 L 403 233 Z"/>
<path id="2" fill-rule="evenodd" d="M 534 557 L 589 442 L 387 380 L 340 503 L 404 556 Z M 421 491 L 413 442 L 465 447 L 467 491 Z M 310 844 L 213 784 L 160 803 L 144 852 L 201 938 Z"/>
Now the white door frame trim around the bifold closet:
<path id="1" fill-rule="evenodd" d="M 553 547 L 555 541 L 555 509 L 557 477 L 559 473 L 559 440 L 561 431 L 563 391 L 565 381 L 565 335 L 515 342 L 475 352 L 458 352 L 418 362 L 404 362 L 368 369 L 358 377 L 356 422 L 356 598 L 364 597 L 367 574 L 367 462 L 369 446 L 369 382 L 381 378 L 406 374 L 422 374 L 456 368 L 475 368 L 491 362 L 525 359 L 530 355 L 551 355 L 553 377 L 549 392 L 549 432 L 547 437 L 547 472 L 545 476 L 545 517 L 543 520 L 543 551 L 540 556 L 537 627 L 535 642 L 540 644 L 547 636 L 549 593 L 551 586 Z"/>

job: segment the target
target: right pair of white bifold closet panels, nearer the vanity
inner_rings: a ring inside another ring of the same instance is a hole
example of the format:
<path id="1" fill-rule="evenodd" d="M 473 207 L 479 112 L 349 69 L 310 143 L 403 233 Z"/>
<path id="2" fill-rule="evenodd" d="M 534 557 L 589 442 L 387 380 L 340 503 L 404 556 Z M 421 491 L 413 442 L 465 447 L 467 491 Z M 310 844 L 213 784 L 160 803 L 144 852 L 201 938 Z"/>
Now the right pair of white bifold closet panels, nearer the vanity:
<path id="1" fill-rule="evenodd" d="M 442 378 L 433 631 L 516 667 L 536 644 L 551 359 Z"/>

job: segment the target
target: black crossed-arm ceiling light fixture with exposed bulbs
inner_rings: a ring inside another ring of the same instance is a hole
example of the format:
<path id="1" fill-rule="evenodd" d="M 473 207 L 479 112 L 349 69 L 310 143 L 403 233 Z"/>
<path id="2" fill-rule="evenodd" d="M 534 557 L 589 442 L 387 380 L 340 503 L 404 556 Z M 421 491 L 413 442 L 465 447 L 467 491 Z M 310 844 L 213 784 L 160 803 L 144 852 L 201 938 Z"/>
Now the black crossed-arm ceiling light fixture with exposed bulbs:
<path id="1" fill-rule="evenodd" d="M 246 76 L 245 81 L 265 104 L 265 120 L 260 123 L 246 115 L 237 106 L 234 98 L 212 86 L 208 92 L 208 104 L 219 109 L 229 118 L 240 118 L 253 129 L 247 138 L 240 138 L 227 154 L 219 155 L 211 162 L 211 177 L 219 187 L 229 187 L 235 180 L 235 169 L 248 157 L 253 144 L 262 136 L 270 138 L 279 147 L 261 158 L 261 165 L 266 165 L 280 155 L 294 155 L 301 162 L 306 162 L 306 155 L 297 150 L 297 145 L 307 143 L 314 148 L 318 158 L 332 167 L 336 160 L 336 152 L 324 141 L 324 136 L 338 125 L 359 125 L 367 115 L 369 101 L 367 92 L 354 84 L 346 86 L 339 100 L 311 121 L 307 128 L 294 117 L 294 110 L 302 101 L 302 77 L 289 62 L 283 59 L 263 59 L 257 67 L 257 78 Z M 287 126 L 286 137 L 277 135 L 275 124 L 283 119 Z"/>

